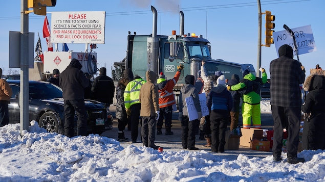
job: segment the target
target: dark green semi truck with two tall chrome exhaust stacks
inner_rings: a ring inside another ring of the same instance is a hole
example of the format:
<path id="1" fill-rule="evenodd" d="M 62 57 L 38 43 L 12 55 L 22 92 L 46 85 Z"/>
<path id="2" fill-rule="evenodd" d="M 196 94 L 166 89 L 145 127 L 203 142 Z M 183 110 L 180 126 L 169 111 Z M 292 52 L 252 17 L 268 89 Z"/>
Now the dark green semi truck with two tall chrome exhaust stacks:
<path id="1" fill-rule="evenodd" d="M 180 11 L 179 35 L 176 35 L 176 31 L 172 31 L 171 35 L 157 35 L 157 10 L 151 6 L 151 11 L 153 12 L 153 33 L 131 35 L 129 32 L 126 57 L 122 62 L 115 62 L 114 67 L 122 67 L 122 70 L 131 68 L 134 75 L 139 75 L 143 79 L 145 79 L 147 70 L 152 70 L 157 75 L 163 72 L 166 79 L 171 79 L 177 71 L 177 66 L 183 64 L 184 69 L 174 90 L 179 90 L 185 83 L 184 77 L 187 74 L 194 75 L 197 79 L 197 72 L 201 69 L 202 61 L 205 61 L 205 68 L 209 75 L 221 71 L 226 79 L 231 79 L 232 74 L 238 74 L 242 78 L 242 72 L 245 69 L 255 74 L 252 64 L 212 59 L 210 42 L 207 39 L 202 35 L 184 34 L 184 13 L 182 11 Z"/>

